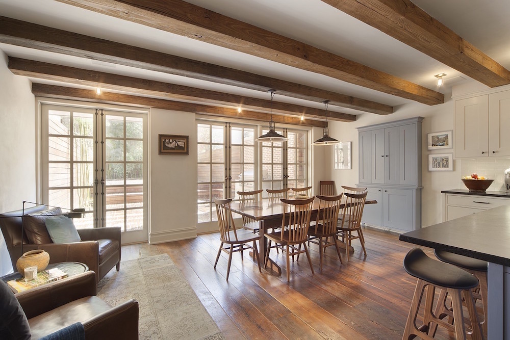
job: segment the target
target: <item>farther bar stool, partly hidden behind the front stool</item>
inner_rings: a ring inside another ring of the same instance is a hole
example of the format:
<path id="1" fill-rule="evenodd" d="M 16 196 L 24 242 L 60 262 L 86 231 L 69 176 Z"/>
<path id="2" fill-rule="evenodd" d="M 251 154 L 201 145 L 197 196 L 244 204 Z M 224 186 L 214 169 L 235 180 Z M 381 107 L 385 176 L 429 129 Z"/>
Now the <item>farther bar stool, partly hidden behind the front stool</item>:
<path id="1" fill-rule="evenodd" d="M 454 253 L 450 253 L 445 250 L 434 250 L 436 257 L 441 261 L 455 265 L 457 267 L 461 267 L 467 272 L 473 274 L 478 279 L 479 285 L 473 290 L 473 296 L 476 300 L 481 300 L 483 306 L 483 319 L 480 319 L 480 324 L 483 328 L 483 334 L 487 334 L 487 307 L 488 307 L 488 299 L 487 299 L 487 261 L 479 260 L 477 258 L 472 258 L 468 256 L 458 255 Z M 446 294 L 446 293 L 445 293 Z M 440 310 L 439 308 L 441 307 Z M 436 308 L 436 315 L 438 312 L 445 312 L 445 305 L 438 305 Z"/>

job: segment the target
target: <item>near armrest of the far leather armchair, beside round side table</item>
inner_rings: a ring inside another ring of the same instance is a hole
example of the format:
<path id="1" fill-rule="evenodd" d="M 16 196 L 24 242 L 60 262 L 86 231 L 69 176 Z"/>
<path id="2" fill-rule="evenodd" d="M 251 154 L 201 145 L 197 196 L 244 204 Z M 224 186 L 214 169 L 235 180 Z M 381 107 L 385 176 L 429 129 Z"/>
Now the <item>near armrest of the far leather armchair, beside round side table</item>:
<path id="1" fill-rule="evenodd" d="M 25 244 L 23 251 L 43 249 L 49 254 L 49 263 L 81 262 L 89 270 L 99 273 L 99 243 L 97 241 L 73 243 Z"/>

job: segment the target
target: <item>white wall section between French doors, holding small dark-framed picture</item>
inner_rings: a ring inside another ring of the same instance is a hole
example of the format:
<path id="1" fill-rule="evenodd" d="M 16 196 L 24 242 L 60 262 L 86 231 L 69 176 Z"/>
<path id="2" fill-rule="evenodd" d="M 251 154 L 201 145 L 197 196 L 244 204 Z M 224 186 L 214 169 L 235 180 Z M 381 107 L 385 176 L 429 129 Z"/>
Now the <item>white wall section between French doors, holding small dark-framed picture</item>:
<path id="1" fill-rule="evenodd" d="M 196 237 L 196 123 L 195 115 L 151 109 L 149 242 Z M 189 155 L 158 154 L 158 135 L 190 136 Z"/>

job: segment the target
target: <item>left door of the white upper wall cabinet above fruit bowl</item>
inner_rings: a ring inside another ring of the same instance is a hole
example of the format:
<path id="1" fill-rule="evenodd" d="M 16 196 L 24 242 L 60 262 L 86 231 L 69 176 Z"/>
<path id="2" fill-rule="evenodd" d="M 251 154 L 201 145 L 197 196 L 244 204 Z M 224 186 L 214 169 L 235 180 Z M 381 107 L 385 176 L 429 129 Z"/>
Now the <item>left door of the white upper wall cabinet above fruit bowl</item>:
<path id="1" fill-rule="evenodd" d="M 489 155 L 489 96 L 455 101 L 455 156 Z"/>

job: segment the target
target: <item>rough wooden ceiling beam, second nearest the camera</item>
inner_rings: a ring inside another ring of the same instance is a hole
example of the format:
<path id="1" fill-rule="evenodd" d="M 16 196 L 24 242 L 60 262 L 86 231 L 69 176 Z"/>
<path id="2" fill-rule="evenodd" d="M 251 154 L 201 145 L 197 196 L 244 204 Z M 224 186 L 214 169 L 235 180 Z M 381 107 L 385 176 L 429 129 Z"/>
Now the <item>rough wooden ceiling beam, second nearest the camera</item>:
<path id="1" fill-rule="evenodd" d="M 58 1 L 421 103 L 444 102 L 437 91 L 182 0 Z"/>

